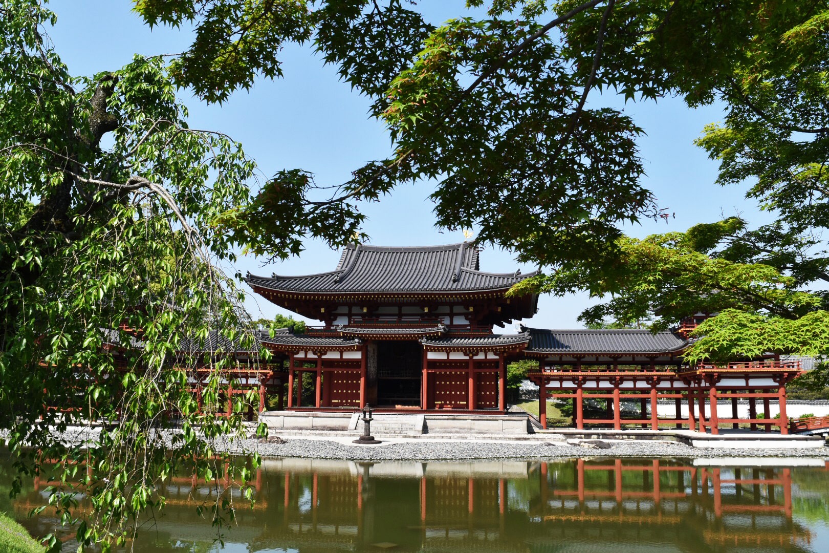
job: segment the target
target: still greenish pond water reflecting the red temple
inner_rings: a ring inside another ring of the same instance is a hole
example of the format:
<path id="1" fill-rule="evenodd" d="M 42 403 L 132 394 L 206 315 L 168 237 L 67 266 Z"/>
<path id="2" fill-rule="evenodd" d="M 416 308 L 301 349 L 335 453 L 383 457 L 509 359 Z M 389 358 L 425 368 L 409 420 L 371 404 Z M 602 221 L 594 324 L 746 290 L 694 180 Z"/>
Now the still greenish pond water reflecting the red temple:
<path id="1" fill-rule="evenodd" d="M 256 476 L 255 505 L 238 500 L 224 551 L 829 551 L 829 463 L 768 463 L 271 458 Z M 9 470 L 0 464 L 0 474 Z M 30 483 L 12 504 L 2 497 L 0 511 L 34 534 L 50 531 L 49 509 L 27 519 L 44 487 Z M 167 509 L 143 526 L 134 551 L 220 551 L 216 530 L 196 515 L 215 493 L 189 478 L 171 483 Z"/>

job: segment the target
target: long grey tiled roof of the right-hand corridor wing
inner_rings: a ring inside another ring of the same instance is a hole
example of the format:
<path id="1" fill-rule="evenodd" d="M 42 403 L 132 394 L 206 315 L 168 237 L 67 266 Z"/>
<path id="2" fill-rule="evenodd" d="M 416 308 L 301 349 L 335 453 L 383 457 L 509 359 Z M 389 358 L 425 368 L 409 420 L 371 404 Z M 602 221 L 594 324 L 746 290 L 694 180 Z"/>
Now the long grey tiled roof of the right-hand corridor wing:
<path id="1" fill-rule="evenodd" d="M 673 332 L 649 330 L 544 330 L 526 328 L 530 345 L 526 352 L 541 353 L 669 353 L 688 345 Z"/>

